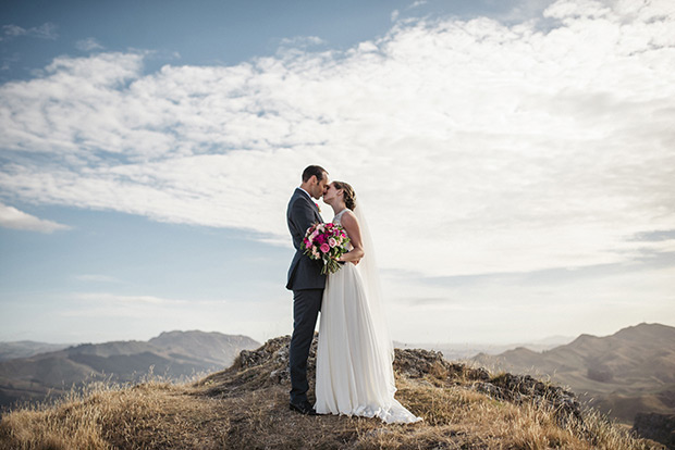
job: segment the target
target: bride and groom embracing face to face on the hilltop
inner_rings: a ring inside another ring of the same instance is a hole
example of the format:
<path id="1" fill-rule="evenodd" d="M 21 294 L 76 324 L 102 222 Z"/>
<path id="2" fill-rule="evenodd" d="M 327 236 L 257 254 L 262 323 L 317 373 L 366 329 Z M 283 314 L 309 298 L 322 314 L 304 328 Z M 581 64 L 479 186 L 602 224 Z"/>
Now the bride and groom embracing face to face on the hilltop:
<path id="1" fill-rule="evenodd" d="M 348 248 L 335 272 L 303 250 L 307 230 L 323 218 L 314 199 L 329 204 L 332 224 L 348 236 Z M 302 175 L 286 211 L 295 254 L 286 288 L 293 291 L 293 335 L 289 349 L 290 408 L 302 414 L 344 414 L 379 417 L 385 423 L 412 423 L 415 416 L 394 399 L 393 345 L 384 312 L 370 233 L 354 189 L 330 182 L 328 172 L 310 165 Z M 317 318 L 316 401 L 308 397 L 307 358 Z"/>

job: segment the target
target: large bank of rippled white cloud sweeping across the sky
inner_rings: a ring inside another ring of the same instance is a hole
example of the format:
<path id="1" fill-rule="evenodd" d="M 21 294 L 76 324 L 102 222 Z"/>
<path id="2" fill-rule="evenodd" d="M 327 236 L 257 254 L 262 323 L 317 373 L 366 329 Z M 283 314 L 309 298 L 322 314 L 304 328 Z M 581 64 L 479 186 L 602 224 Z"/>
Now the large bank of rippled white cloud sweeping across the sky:
<path id="1" fill-rule="evenodd" d="M 635 236 L 675 229 L 667 8 L 564 0 L 545 32 L 408 21 L 344 52 L 150 74 L 139 53 L 58 58 L 0 87 L 0 189 L 287 242 L 287 198 L 318 163 L 356 188 L 385 268 L 634 261 Z"/>

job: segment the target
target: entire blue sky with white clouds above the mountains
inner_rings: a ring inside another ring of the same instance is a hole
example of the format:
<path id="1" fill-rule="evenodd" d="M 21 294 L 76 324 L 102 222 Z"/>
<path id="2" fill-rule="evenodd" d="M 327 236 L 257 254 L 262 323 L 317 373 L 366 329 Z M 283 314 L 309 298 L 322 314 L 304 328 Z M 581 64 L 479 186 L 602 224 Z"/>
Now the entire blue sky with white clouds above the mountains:
<path id="1" fill-rule="evenodd" d="M 309 164 L 356 190 L 397 341 L 675 326 L 671 0 L 0 17 L 1 341 L 290 334 Z"/>

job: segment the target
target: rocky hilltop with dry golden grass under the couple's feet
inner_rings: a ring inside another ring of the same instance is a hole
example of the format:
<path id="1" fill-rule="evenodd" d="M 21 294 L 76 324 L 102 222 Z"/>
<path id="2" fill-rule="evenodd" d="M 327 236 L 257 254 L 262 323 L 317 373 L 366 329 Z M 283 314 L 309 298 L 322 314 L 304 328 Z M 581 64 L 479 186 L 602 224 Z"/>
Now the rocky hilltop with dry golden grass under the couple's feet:
<path id="1" fill-rule="evenodd" d="M 289 341 L 244 350 L 228 370 L 197 383 L 94 387 L 56 405 L 14 411 L 0 422 L 0 449 L 663 448 L 584 411 L 561 387 L 414 349 L 396 350 L 396 398 L 424 422 L 299 415 L 287 404 Z"/>

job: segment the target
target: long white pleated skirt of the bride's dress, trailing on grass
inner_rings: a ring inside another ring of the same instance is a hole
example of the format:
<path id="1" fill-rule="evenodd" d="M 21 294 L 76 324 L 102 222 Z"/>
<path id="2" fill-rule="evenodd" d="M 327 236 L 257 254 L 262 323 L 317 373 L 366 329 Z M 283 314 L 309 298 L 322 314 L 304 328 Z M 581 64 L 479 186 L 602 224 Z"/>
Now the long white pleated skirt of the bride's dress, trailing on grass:
<path id="1" fill-rule="evenodd" d="M 392 355 L 376 336 L 360 275 L 347 263 L 329 274 L 319 324 L 315 409 L 319 414 L 420 421 L 394 399 Z M 389 353 L 389 354 L 386 354 Z"/>

